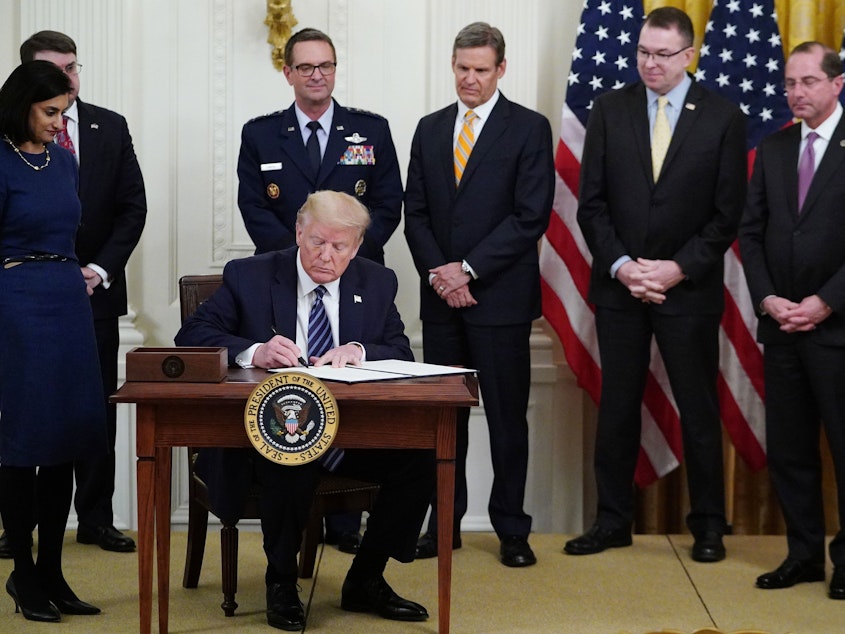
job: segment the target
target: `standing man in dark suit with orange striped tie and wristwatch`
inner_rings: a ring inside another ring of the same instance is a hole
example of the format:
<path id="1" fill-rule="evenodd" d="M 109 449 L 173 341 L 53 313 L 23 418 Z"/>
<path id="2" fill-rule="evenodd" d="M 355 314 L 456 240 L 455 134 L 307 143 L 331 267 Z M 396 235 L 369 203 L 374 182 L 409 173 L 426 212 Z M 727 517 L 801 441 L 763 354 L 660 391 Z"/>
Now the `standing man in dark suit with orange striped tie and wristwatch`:
<path id="1" fill-rule="evenodd" d="M 529 566 L 536 562 L 528 545 L 531 517 L 523 510 L 529 335 L 540 316 L 537 241 L 549 222 L 554 165 L 546 118 L 499 92 L 505 68 L 499 29 L 476 22 L 458 33 L 452 50 L 458 102 L 417 126 L 405 236 L 420 275 L 425 360 L 479 371 L 494 472 L 490 520 L 502 563 Z M 468 421 L 466 410 L 458 421 L 454 534 L 443 536 L 454 548 L 467 509 Z M 418 557 L 437 554 L 436 531 L 432 506 Z"/>

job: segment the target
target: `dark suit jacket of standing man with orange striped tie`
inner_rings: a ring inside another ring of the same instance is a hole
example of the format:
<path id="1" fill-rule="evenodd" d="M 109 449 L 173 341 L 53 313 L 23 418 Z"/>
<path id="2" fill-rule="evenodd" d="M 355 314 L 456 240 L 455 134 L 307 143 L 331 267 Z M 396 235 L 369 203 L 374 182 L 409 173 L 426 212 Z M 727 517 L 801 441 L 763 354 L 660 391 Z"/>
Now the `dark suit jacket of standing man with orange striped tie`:
<path id="1" fill-rule="evenodd" d="M 552 133 L 542 115 L 504 95 L 484 123 L 455 188 L 457 104 L 420 120 L 405 190 L 405 237 L 420 275 L 420 316 L 443 322 L 452 309 L 428 283 L 428 271 L 466 260 L 478 279 L 468 323 L 505 325 L 540 316 L 537 241 L 554 196 Z"/>

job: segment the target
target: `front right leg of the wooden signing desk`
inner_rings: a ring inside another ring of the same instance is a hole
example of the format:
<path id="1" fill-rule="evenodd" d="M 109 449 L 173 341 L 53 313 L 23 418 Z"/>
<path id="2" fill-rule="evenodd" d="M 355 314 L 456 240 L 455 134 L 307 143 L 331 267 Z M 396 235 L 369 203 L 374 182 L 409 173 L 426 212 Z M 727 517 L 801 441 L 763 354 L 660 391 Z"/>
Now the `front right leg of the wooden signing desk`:
<path id="1" fill-rule="evenodd" d="M 440 634 L 449 634 L 452 606 L 452 531 L 455 515 L 455 410 L 437 426 L 437 603 Z"/>

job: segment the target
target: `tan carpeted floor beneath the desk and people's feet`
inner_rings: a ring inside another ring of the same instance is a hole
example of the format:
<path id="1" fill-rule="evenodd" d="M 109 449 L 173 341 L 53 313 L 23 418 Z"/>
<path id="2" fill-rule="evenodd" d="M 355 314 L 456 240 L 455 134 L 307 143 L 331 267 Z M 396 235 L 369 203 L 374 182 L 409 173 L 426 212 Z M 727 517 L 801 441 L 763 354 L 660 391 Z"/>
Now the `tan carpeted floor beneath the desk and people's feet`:
<path id="1" fill-rule="evenodd" d="M 14 614 L 0 596 L 0 632 L 137 632 L 137 558 L 107 553 L 73 541 L 65 546 L 65 575 L 81 598 L 103 609 L 96 617 L 66 616 L 61 624 L 31 623 Z M 634 546 L 587 557 L 563 555 L 564 535 L 532 535 L 536 566 L 509 569 L 498 561 L 498 540 L 488 533 L 464 533 L 455 551 L 452 632 L 456 634 L 645 634 L 671 628 L 683 634 L 710 627 L 767 634 L 845 632 L 845 602 L 827 598 L 827 585 L 800 584 L 786 590 L 754 588 L 757 575 L 776 567 L 783 537 L 731 536 L 728 558 L 699 564 L 689 558 L 686 535 L 635 536 Z M 216 530 L 196 590 L 182 588 L 185 533 L 173 534 L 170 632 L 271 632 L 265 618 L 264 558 L 260 535 L 241 532 L 239 608 L 226 618 L 219 608 L 220 556 Z M 316 581 L 303 581 L 307 632 L 343 634 L 437 632 L 437 560 L 391 562 L 386 577 L 399 594 L 427 606 L 425 623 L 398 623 L 339 608 L 340 586 L 351 557 L 327 548 Z M 11 562 L 0 560 L 0 583 Z M 829 574 L 828 574 L 829 576 Z M 2 587 L 2 586 L 0 586 Z M 312 594 L 313 591 L 313 594 Z M 2 593 L 2 590 L 0 590 Z M 153 615 L 156 631 L 157 615 Z"/>

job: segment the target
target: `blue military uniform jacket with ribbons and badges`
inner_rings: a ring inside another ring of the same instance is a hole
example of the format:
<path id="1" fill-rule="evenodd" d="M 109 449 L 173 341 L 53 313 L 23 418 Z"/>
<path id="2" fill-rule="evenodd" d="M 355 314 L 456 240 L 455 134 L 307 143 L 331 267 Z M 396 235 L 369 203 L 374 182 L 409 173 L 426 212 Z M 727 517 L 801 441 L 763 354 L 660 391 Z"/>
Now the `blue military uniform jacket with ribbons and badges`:
<path id="1" fill-rule="evenodd" d="M 356 164 L 347 150 L 365 151 Z M 263 167 L 262 167 L 263 166 Z M 256 253 L 293 246 L 296 212 L 308 194 L 331 189 L 358 198 L 371 224 L 358 255 L 384 262 L 402 213 L 402 178 L 387 119 L 335 102 L 332 129 L 315 178 L 293 105 L 247 122 L 238 158 L 238 206 Z"/>

